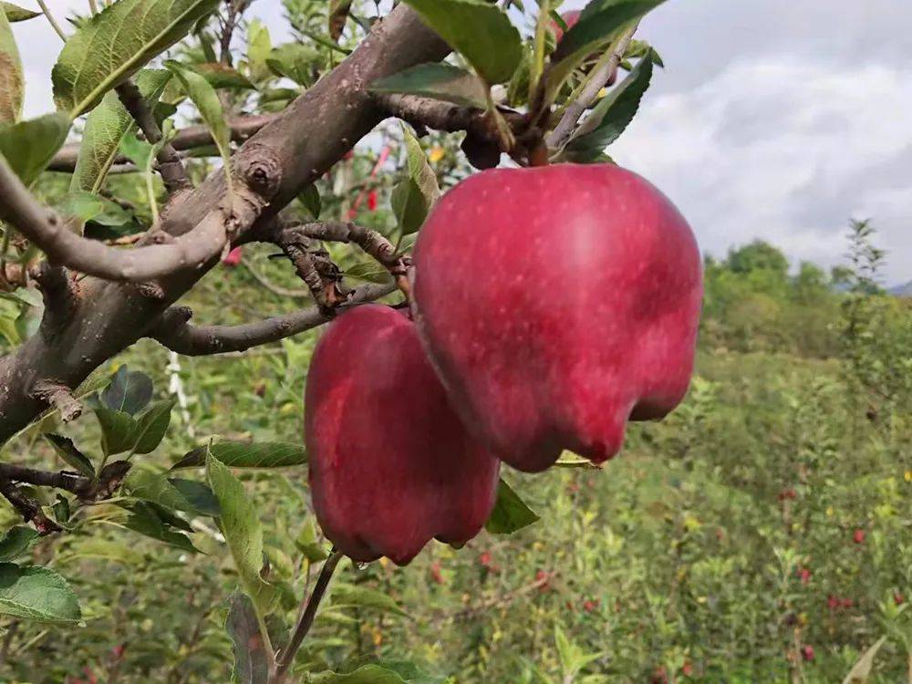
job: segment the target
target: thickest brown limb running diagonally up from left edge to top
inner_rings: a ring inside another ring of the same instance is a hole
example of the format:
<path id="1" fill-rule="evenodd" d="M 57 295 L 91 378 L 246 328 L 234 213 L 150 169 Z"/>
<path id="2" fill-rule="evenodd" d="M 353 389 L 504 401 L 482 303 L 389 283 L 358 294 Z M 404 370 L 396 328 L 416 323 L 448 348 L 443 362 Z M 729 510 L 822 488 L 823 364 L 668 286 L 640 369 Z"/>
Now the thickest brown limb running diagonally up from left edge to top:
<path id="1" fill-rule="evenodd" d="M 372 28 L 358 48 L 332 72 L 295 99 L 233 155 L 233 170 L 245 185 L 230 222 L 235 244 L 251 225 L 275 217 L 308 183 L 318 179 L 385 116 L 368 88 L 378 78 L 437 61 L 450 48 L 409 7 L 399 5 Z M 268 160 L 264 163 L 264 160 Z M 253 189 L 268 189 L 265 200 Z M 275 192 L 273 192 L 275 191 Z M 0 190 L 0 196 L 9 193 Z M 204 233 L 204 223 L 222 210 L 227 196 L 224 174 L 214 172 L 192 192 L 174 195 L 161 216 L 161 232 L 175 238 Z M 210 226 L 211 228 L 211 226 Z M 142 250 L 136 250 L 137 253 Z M 95 368 L 147 336 L 161 313 L 218 264 L 215 254 L 201 267 L 163 276 L 161 299 L 135 287 L 87 278 L 81 282 L 78 311 L 53 338 L 40 331 L 13 355 L 0 359 L 0 442 L 24 428 L 44 408 L 31 396 L 36 380 L 54 378 L 77 387 Z"/>

